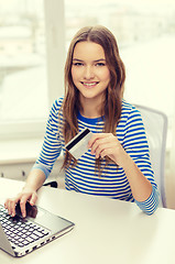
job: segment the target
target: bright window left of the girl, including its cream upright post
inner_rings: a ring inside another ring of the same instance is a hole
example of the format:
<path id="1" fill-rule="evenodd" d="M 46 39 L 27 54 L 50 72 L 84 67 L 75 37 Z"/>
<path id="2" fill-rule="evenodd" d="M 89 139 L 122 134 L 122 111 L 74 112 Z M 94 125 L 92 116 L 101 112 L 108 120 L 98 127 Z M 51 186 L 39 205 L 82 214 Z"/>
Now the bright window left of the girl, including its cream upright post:
<path id="1" fill-rule="evenodd" d="M 43 133 L 51 105 L 63 95 L 64 29 L 57 31 L 63 6 L 56 0 L 0 0 L 2 139 Z"/>

